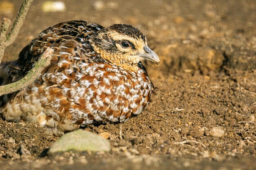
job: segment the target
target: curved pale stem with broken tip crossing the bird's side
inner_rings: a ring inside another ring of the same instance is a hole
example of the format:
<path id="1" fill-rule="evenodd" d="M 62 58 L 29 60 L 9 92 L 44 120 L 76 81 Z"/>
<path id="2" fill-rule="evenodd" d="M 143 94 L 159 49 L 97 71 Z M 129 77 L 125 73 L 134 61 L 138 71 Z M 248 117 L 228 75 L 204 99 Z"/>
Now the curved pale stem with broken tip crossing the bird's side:
<path id="1" fill-rule="evenodd" d="M 53 51 L 53 49 L 48 47 L 35 63 L 34 68 L 32 68 L 22 79 L 11 84 L 0 86 L 0 96 L 19 91 L 33 83 L 43 69 L 50 64 Z"/>

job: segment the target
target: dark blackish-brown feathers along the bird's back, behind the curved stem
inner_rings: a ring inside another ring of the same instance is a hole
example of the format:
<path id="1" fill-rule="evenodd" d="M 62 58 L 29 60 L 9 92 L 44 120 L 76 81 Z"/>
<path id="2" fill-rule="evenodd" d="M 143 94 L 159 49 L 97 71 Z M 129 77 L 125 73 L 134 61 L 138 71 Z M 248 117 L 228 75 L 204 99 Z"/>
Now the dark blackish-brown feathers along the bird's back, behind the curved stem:
<path id="1" fill-rule="evenodd" d="M 24 77 L 27 72 L 33 68 L 35 62 L 47 47 L 54 49 L 51 62 L 59 60 L 59 46 L 63 43 L 67 45 L 80 42 L 81 44 L 81 42 L 84 41 L 81 45 L 84 45 L 85 48 L 88 46 L 90 49 L 88 38 L 91 34 L 102 28 L 103 26 L 99 24 L 91 24 L 85 21 L 62 22 L 48 27 L 41 32 L 37 38 L 32 40 L 29 45 L 22 49 L 18 60 L 9 64 L 6 84 L 16 82 Z M 69 46 L 66 47 L 70 48 Z"/>

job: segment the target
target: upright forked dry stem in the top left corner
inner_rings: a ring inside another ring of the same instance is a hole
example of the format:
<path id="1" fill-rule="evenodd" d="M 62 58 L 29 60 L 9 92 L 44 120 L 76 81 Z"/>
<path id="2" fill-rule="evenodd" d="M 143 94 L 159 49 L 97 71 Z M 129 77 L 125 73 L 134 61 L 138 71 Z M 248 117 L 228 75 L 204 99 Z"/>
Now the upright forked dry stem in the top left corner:
<path id="1" fill-rule="evenodd" d="M 16 17 L 16 20 L 13 23 L 13 26 L 11 28 L 11 31 L 6 36 L 7 30 L 10 25 L 10 20 L 7 18 L 4 18 L 1 31 L 0 31 L 0 63 L 2 62 L 2 57 L 4 55 L 4 51 L 7 46 L 11 45 L 14 40 L 16 39 L 20 28 L 23 24 L 23 21 L 25 20 L 25 17 L 27 15 L 27 11 L 29 10 L 29 7 L 33 0 L 24 0 L 20 10 L 18 12 L 18 16 Z"/>

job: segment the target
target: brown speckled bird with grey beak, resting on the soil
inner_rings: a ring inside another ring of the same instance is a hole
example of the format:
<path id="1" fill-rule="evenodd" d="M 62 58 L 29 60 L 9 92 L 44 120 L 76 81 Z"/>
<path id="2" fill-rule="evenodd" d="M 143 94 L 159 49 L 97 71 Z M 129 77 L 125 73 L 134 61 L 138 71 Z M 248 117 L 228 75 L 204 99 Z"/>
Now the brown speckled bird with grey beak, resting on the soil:
<path id="1" fill-rule="evenodd" d="M 125 122 L 153 98 L 155 88 L 141 61 L 160 60 L 130 24 L 74 20 L 49 26 L 16 61 L 0 66 L 1 85 L 24 77 L 47 47 L 54 50 L 52 59 L 34 82 L 0 97 L 7 121 L 38 122 L 58 136 L 90 124 Z"/>

